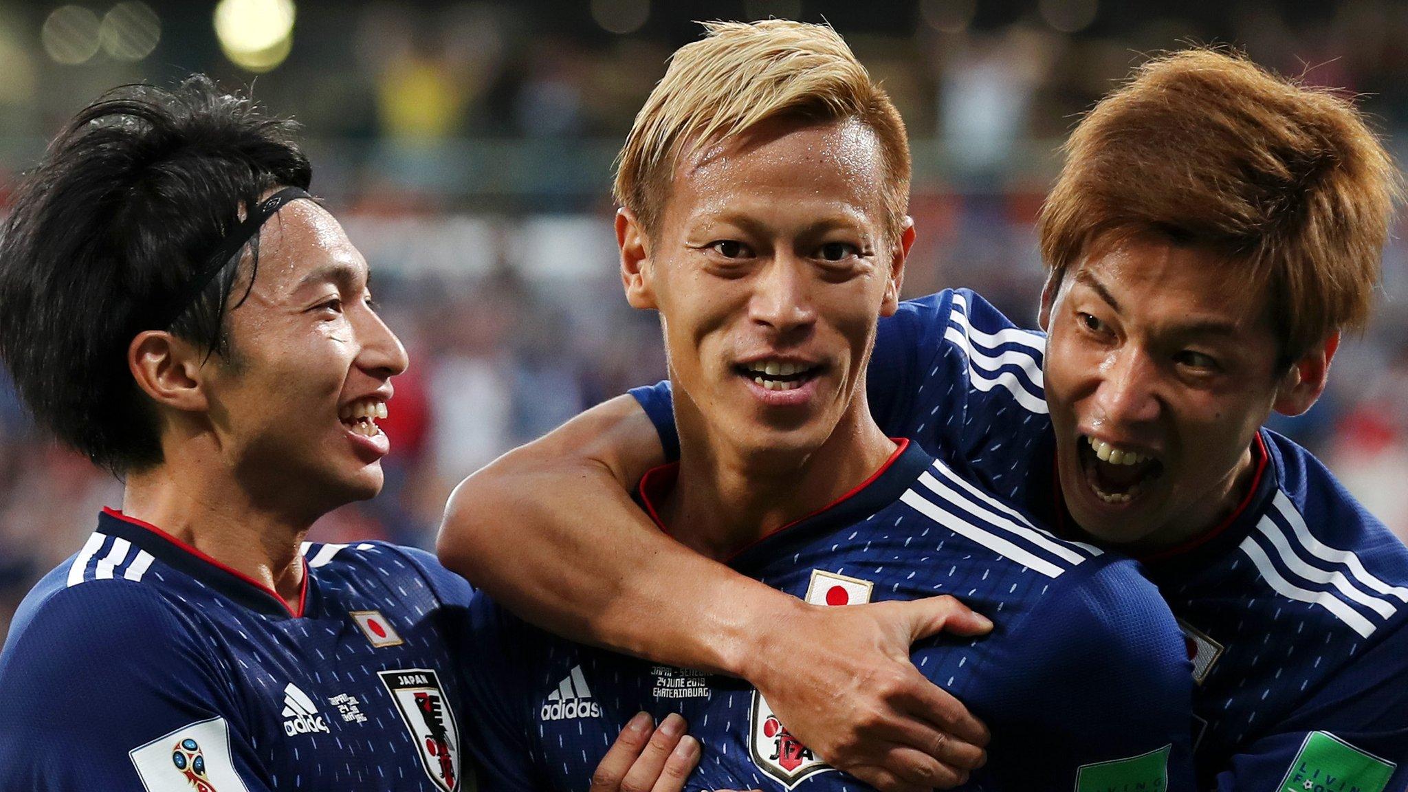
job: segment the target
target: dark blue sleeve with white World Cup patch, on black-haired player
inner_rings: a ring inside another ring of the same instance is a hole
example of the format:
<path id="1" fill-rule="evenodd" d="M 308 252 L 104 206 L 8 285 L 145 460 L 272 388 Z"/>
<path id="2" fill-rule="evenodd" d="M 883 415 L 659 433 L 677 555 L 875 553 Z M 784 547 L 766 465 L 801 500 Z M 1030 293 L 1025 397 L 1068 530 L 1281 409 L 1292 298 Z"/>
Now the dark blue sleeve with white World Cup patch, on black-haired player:
<path id="1" fill-rule="evenodd" d="M 270 789 L 208 640 L 125 581 L 23 609 L 0 655 L 0 789 Z"/>

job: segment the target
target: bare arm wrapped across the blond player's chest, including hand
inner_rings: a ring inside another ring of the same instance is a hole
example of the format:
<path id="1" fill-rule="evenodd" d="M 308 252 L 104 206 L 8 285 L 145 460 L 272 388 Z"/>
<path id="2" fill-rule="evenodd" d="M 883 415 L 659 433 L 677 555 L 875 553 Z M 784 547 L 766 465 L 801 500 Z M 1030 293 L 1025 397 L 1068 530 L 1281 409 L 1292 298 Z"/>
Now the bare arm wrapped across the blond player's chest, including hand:
<path id="1" fill-rule="evenodd" d="M 600 404 L 465 479 L 441 561 L 573 640 L 748 679 L 818 755 L 881 789 L 964 781 L 987 731 L 910 644 L 990 623 L 952 598 L 810 606 L 693 552 L 627 490 L 663 457 L 635 399 Z"/>

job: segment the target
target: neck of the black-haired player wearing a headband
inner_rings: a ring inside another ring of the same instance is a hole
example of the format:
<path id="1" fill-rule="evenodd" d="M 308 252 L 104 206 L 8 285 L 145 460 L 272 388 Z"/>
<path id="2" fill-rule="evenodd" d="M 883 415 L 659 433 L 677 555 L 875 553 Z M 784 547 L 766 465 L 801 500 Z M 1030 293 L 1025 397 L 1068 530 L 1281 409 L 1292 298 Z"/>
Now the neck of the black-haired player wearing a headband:
<path id="1" fill-rule="evenodd" d="M 127 475 L 122 513 L 276 592 L 298 606 L 298 545 L 315 514 L 293 514 L 253 497 L 218 457 L 197 444 L 166 448 L 155 468 Z"/>

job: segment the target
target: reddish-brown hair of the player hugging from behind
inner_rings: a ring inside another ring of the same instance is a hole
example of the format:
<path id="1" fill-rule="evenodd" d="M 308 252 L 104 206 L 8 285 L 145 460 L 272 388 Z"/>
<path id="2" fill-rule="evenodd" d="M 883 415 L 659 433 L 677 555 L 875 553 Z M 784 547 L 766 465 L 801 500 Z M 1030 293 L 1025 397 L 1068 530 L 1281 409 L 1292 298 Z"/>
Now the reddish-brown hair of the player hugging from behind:
<path id="1" fill-rule="evenodd" d="M 1153 235 L 1224 254 L 1267 293 L 1287 361 L 1367 321 L 1400 176 L 1343 96 L 1238 52 L 1173 52 L 1102 99 L 1066 156 L 1038 221 L 1057 282 Z"/>

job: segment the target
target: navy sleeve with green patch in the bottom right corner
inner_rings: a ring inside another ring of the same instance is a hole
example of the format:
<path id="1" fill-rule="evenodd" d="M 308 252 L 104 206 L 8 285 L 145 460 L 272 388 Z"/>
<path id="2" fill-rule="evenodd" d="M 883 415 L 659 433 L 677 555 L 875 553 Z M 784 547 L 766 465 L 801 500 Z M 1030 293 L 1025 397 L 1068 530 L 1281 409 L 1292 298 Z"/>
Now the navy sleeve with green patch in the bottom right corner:
<path id="1" fill-rule="evenodd" d="M 1408 789 L 1408 629 L 1402 624 L 1269 734 L 1214 768 L 1219 792 Z"/>

